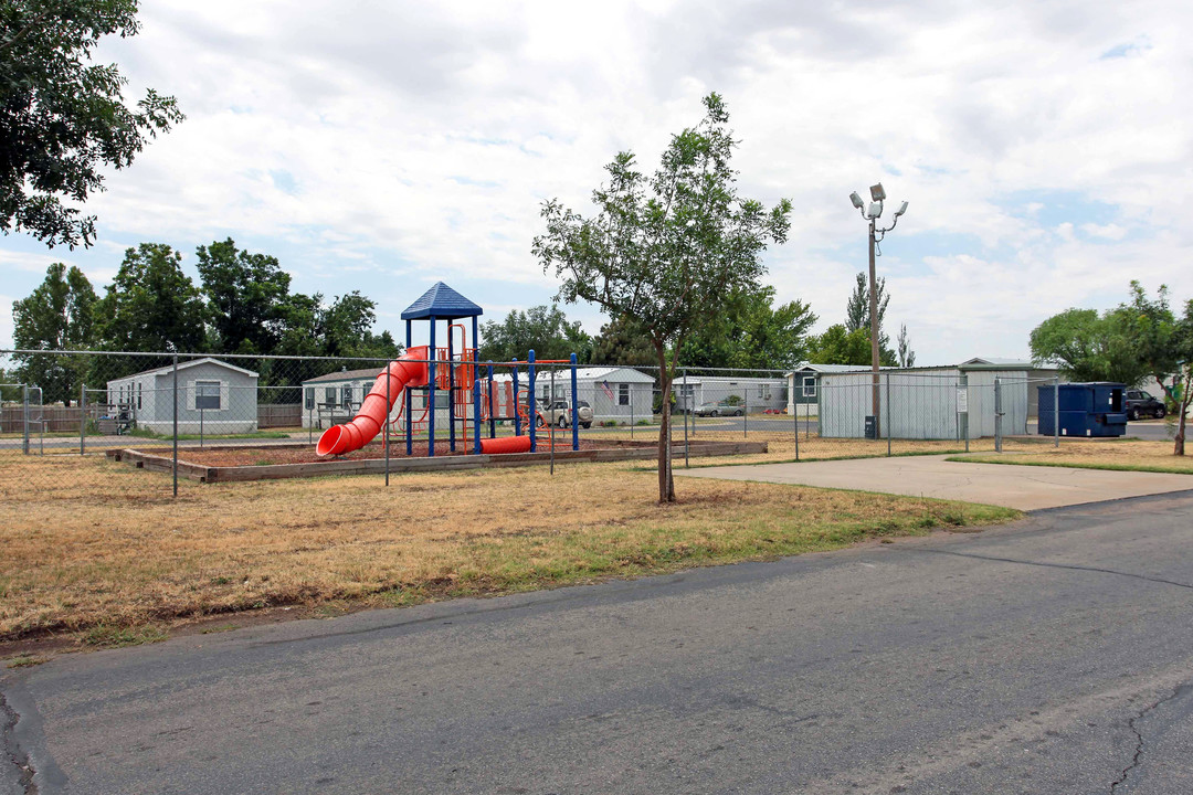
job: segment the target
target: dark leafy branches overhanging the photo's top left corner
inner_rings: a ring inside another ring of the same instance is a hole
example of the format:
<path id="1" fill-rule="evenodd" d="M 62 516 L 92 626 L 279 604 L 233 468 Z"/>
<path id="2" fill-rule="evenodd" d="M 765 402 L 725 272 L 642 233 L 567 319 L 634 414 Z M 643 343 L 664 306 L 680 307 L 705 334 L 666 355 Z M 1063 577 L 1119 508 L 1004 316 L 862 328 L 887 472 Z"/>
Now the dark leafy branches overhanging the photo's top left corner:
<path id="1" fill-rule="evenodd" d="M 0 231 L 91 246 L 95 218 L 73 205 L 183 120 L 152 88 L 129 107 L 128 79 L 92 63 L 104 36 L 137 33 L 136 12 L 136 0 L 0 0 Z"/>

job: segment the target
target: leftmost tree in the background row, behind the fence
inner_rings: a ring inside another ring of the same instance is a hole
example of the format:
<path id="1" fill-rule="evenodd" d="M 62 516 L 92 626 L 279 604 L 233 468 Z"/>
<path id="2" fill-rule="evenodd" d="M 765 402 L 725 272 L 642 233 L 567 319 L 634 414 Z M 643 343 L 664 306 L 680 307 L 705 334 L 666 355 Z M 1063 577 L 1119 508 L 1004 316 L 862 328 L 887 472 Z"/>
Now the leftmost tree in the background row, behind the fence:
<path id="1" fill-rule="evenodd" d="M 33 350 L 80 350 L 94 341 L 95 291 L 76 267 L 55 262 L 45 280 L 26 298 L 13 302 L 13 342 Z M 62 354 L 16 354 L 16 378 L 42 387 L 47 403 L 64 405 L 79 396 L 87 362 Z"/>

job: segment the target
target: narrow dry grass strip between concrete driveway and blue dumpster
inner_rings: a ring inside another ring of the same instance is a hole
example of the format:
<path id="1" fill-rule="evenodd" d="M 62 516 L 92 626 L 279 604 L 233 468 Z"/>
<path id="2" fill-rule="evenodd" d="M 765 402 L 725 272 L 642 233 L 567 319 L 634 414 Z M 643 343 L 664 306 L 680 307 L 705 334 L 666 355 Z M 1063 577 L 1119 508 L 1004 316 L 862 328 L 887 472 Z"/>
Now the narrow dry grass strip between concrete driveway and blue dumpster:
<path id="1" fill-rule="evenodd" d="M 1071 439 L 1062 440 L 1059 448 L 1050 443 L 1013 442 L 1005 445 L 1000 455 L 968 455 L 964 460 L 1193 474 L 1193 455 L 1173 455 L 1173 442 L 1136 439 Z"/>

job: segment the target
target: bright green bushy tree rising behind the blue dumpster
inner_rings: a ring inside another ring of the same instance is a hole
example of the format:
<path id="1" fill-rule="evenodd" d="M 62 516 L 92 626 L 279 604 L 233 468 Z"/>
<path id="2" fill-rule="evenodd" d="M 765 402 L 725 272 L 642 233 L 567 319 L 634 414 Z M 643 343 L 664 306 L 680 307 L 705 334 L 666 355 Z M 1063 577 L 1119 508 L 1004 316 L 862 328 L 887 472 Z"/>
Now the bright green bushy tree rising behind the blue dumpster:
<path id="1" fill-rule="evenodd" d="M 1120 310 L 1065 310 L 1037 325 L 1030 343 L 1037 364 L 1055 364 L 1074 381 L 1137 386 L 1149 374 L 1136 344 L 1135 323 Z"/>

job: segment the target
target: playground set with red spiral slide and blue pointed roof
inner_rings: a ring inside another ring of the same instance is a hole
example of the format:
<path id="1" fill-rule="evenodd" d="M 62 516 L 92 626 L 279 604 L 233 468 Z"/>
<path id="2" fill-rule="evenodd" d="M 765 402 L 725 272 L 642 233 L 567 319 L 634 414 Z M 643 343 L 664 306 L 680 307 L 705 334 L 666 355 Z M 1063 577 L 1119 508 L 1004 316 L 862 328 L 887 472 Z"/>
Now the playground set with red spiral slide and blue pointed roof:
<path id="1" fill-rule="evenodd" d="M 472 454 L 537 452 L 537 426 L 542 415 L 537 406 L 536 378 L 542 365 L 568 365 L 570 368 L 570 405 L 576 400 L 576 355 L 569 360 L 536 361 L 530 350 L 525 362 L 478 362 L 476 343 L 480 339 L 477 318 L 484 310 L 439 281 L 410 304 L 403 312 L 406 321 L 406 352 L 377 375 L 359 411 L 351 422 L 328 428 L 320 436 L 316 453 L 320 458 L 344 455 L 360 449 L 384 431 L 383 443 L 406 437 L 406 454 L 414 454 L 414 434 L 427 434 L 427 456 L 435 454 L 435 420 L 441 410 L 438 395 L 447 393 L 447 445 L 456 452 L 457 436 L 464 452 Z M 472 342 L 468 344 L 468 329 L 463 321 L 472 321 Z M 429 323 L 429 344 L 413 346 L 414 321 Z M 437 347 L 437 327 L 447 324 L 447 344 Z M 519 368 L 526 367 L 526 386 L 519 385 Z M 508 379 L 496 371 L 508 369 Z M 414 396 L 421 393 L 421 412 Z M 397 405 L 395 414 L 394 406 Z M 580 449 L 580 417 L 571 412 L 573 451 Z M 534 418 L 532 421 L 532 418 Z M 512 422 L 513 436 L 497 436 L 497 422 Z M 546 424 L 546 423 L 542 423 Z M 487 427 L 487 428 L 486 428 Z M 487 429 L 487 434 L 484 433 Z M 525 434 L 524 434 L 525 429 Z M 391 433 L 396 431 L 396 433 Z M 458 431 L 458 433 L 457 433 Z M 555 429 L 548 427 L 551 445 Z M 470 449 L 471 447 L 471 449 Z"/>

